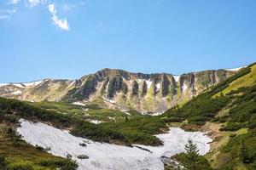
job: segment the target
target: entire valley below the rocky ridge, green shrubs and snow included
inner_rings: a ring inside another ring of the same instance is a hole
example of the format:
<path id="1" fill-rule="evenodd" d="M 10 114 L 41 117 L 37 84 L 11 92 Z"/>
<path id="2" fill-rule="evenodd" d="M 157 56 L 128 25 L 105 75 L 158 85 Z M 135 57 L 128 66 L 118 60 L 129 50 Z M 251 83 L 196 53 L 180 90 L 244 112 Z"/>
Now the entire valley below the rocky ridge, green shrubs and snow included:
<path id="1" fill-rule="evenodd" d="M 10 167 L 26 162 L 24 166 L 32 169 L 61 166 L 62 169 L 73 169 L 75 162 L 63 159 L 67 154 L 73 156 L 79 169 L 104 169 L 108 166 L 110 169 L 125 169 L 125 165 L 137 165 L 134 169 L 173 169 L 172 165 L 164 164 L 160 157 L 166 156 L 181 165 L 185 164 L 181 152 L 185 151 L 188 139 L 192 139 L 200 154 L 204 155 L 201 161 L 206 166 L 207 163 L 211 165 L 209 169 L 253 170 L 256 166 L 255 68 L 255 64 L 241 68 L 159 116 L 141 114 L 132 107 L 129 110 L 112 108 L 99 101 L 91 100 L 88 103 L 73 100 L 73 97 L 70 102 L 0 98 L 0 125 L 6 129 L 1 135 L 0 155 L 6 157 Z M 206 132 L 210 138 L 203 135 Z M 79 145 L 83 140 L 89 141 L 86 147 Z M 34 146 L 29 145 L 27 152 L 41 155 L 11 156 L 8 150 L 21 151 L 27 145 L 25 141 Z M 45 150 L 47 147 L 50 150 Z M 96 153 L 91 155 L 92 150 L 99 151 L 98 155 L 103 156 L 99 158 L 101 161 L 97 160 Z M 119 150 L 123 150 L 124 154 L 117 156 Z M 128 153 L 136 155 L 129 158 Z M 89 158 L 75 158 L 79 154 Z M 125 161 L 114 163 L 108 156 L 115 161 Z M 48 161 L 49 157 L 55 161 Z M 42 163 L 44 161 L 47 163 Z"/>

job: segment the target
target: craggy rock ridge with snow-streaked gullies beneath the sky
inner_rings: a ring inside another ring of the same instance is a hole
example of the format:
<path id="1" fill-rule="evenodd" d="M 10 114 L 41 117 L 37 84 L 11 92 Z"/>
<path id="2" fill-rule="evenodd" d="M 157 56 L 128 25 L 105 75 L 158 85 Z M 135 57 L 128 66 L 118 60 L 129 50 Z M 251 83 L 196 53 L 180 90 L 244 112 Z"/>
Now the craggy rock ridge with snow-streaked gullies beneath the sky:
<path id="1" fill-rule="evenodd" d="M 235 73 L 212 70 L 174 76 L 103 69 L 76 81 L 45 79 L 0 84 L 0 96 L 35 102 L 79 101 L 120 110 L 156 113 L 188 101 Z"/>

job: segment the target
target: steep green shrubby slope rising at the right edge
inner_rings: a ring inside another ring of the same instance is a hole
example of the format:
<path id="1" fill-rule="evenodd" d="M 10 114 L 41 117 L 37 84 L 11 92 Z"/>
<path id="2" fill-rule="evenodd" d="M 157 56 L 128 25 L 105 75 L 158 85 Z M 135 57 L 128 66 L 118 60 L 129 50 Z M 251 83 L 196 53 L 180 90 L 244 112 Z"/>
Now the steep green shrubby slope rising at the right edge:
<path id="1" fill-rule="evenodd" d="M 220 128 L 219 147 L 207 155 L 218 169 L 256 169 L 256 65 L 242 69 L 163 116 L 203 125 L 215 122 Z M 216 141 L 215 141 L 216 142 Z"/>

